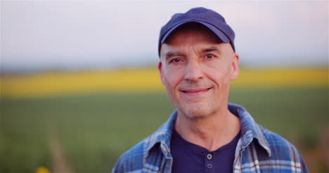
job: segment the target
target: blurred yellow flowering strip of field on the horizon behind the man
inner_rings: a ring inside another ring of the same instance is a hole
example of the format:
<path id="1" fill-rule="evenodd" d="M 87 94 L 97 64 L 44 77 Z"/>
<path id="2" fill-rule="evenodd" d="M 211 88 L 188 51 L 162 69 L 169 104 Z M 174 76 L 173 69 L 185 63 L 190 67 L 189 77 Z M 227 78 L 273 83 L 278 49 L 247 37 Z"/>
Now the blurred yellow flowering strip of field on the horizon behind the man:
<path id="1" fill-rule="evenodd" d="M 328 87 L 328 69 L 241 69 L 233 88 Z M 2 74 L 1 96 L 164 91 L 156 68 Z"/>

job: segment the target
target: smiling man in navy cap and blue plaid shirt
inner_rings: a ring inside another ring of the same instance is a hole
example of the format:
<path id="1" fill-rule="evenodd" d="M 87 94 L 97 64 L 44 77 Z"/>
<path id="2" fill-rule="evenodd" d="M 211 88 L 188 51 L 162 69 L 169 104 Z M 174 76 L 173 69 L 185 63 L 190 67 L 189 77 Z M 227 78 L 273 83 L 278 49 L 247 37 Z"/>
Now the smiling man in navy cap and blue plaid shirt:
<path id="1" fill-rule="evenodd" d="M 239 73 L 234 37 L 207 8 L 173 15 L 162 27 L 158 69 L 176 111 L 112 172 L 307 172 L 295 146 L 228 104 Z"/>

